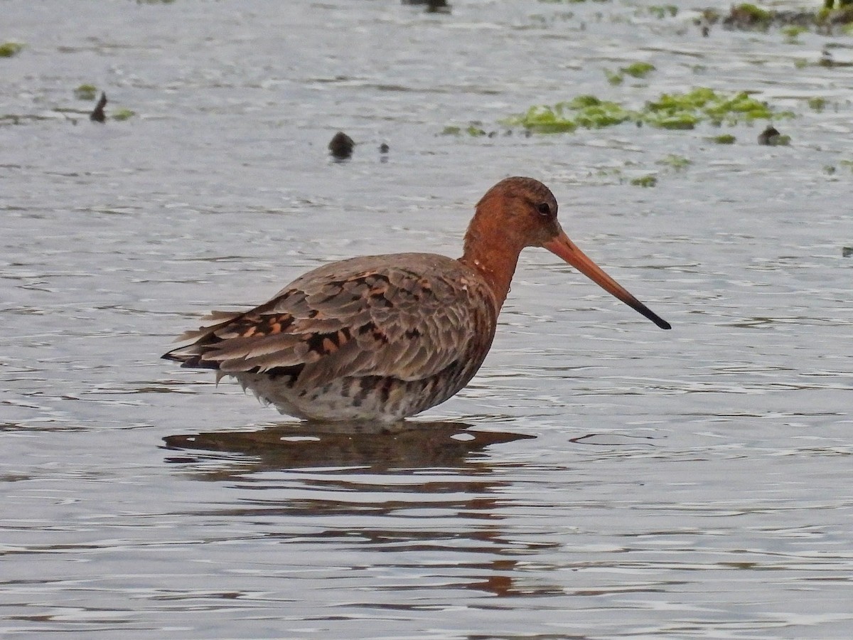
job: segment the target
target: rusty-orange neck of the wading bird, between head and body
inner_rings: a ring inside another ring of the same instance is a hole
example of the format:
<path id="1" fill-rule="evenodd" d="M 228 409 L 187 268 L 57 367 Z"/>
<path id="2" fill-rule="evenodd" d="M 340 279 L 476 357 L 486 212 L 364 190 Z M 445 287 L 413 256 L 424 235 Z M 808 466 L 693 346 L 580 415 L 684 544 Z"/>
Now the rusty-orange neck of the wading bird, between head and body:
<path id="1" fill-rule="evenodd" d="M 483 276 L 495 296 L 496 311 L 501 310 L 503 301 L 507 299 L 523 248 L 518 241 L 497 228 L 492 216 L 475 215 L 468 225 L 459 261 Z"/>

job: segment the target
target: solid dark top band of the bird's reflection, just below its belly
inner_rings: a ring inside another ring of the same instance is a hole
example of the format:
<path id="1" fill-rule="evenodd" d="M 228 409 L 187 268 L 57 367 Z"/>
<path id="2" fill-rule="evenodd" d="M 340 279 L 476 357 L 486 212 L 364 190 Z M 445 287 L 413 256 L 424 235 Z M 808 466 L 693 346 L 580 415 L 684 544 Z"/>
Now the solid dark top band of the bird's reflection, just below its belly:
<path id="1" fill-rule="evenodd" d="M 245 474 L 287 468 L 461 467 L 487 446 L 535 437 L 470 427 L 463 422 L 404 422 L 392 428 L 346 422 L 309 427 L 292 422 L 258 431 L 171 435 L 164 440 L 171 450 L 204 452 L 198 457 L 170 457 L 171 462 L 209 461 L 218 452 L 229 455 L 236 474 Z"/>

